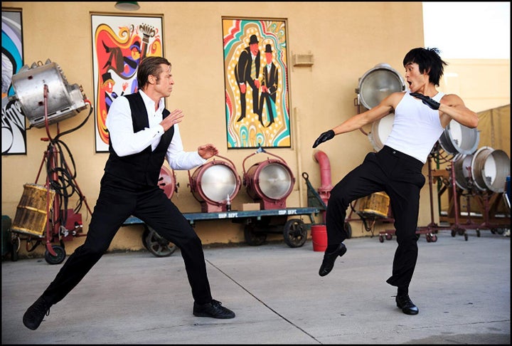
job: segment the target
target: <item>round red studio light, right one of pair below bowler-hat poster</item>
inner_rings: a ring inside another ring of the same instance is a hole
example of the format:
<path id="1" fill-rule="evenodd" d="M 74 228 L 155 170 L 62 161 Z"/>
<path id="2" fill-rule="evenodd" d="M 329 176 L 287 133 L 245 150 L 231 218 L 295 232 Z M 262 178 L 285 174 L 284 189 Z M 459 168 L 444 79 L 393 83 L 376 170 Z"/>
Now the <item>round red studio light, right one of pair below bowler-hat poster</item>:
<path id="1" fill-rule="evenodd" d="M 292 193 L 295 184 L 292 170 L 289 169 L 284 159 L 267 152 L 277 159 L 267 158 L 265 161 L 257 162 L 246 172 L 245 160 L 259 152 L 265 152 L 265 150 L 259 148 L 257 152 L 245 157 L 242 163 L 244 166 L 243 184 L 247 189 L 247 194 L 254 201 L 260 203 L 261 209 L 286 208 L 286 199 Z"/>

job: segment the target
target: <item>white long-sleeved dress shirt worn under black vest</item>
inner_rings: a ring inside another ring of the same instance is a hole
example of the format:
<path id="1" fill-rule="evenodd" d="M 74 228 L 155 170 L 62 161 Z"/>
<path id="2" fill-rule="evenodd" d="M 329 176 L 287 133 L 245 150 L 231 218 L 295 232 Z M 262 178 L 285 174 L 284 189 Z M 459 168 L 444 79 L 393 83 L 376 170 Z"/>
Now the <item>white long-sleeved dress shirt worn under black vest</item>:
<path id="1" fill-rule="evenodd" d="M 132 110 L 129 101 L 124 96 L 114 99 L 107 115 L 105 125 L 109 131 L 112 147 L 119 157 L 137 154 L 151 145 L 151 150 L 160 143 L 164 135 L 164 127 L 160 125 L 164 100 L 160 99 L 159 108 L 155 111 L 155 103 L 142 90 L 139 90 L 146 105 L 149 127 L 139 132 L 134 132 L 132 122 Z M 206 162 L 198 152 L 183 151 L 183 143 L 178 124 L 174 125 L 174 135 L 171 144 L 167 148 L 166 159 L 172 169 L 192 169 Z"/>

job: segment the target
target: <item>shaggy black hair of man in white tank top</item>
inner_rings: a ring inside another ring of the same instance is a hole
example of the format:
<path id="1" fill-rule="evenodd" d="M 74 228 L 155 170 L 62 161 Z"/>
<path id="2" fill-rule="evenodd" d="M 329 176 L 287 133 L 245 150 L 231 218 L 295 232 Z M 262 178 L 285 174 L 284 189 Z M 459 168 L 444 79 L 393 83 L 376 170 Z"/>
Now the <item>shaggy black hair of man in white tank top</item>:
<path id="1" fill-rule="evenodd" d="M 420 72 L 427 72 L 430 83 L 439 86 L 439 80 L 444 73 L 444 66 L 448 65 L 442 61 L 437 48 L 413 48 L 405 54 L 403 65 L 417 63 L 420 66 Z"/>

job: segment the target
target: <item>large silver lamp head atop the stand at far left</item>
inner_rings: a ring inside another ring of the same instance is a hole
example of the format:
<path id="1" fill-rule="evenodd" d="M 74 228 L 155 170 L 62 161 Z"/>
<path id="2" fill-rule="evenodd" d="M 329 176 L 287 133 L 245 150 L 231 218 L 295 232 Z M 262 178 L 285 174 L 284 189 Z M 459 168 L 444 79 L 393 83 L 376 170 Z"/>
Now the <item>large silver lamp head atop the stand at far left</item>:
<path id="1" fill-rule="evenodd" d="M 60 66 L 50 59 L 44 65 L 41 61 L 30 68 L 24 65 L 13 75 L 12 85 L 30 127 L 45 127 L 45 85 L 48 86 L 48 125 L 73 117 L 87 107 L 82 88 L 78 84 L 70 85 Z"/>

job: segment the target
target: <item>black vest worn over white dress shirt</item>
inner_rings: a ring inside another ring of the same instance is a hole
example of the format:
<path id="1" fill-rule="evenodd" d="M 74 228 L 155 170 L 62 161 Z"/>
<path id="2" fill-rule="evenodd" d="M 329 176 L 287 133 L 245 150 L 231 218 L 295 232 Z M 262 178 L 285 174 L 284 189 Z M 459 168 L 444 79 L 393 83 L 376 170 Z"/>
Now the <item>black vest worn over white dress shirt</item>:
<path id="1" fill-rule="evenodd" d="M 146 106 L 140 93 L 124 95 L 129 101 L 130 110 L 132 110 L 132 122 L 134 132 L 144 130 L 149 127 L 148 114 Z M 163 117 L 167 117 L 170 112 L 164 109 Z M 119 157 L 112 148 L 112 141 L 109 137 L 109 158 L 105 164 L 105 172 L 116 177 L 129 180 L 141 185 L 156 186 L 160 175 L 160 169 L 164 164 L 165 155 L 169 144 L 171 144 L 174 135 L 174 126 L 167 130 L 160 138 L 160 143 L 154 151 L 151 151 L 151 145 L 137 154 Z"/>

